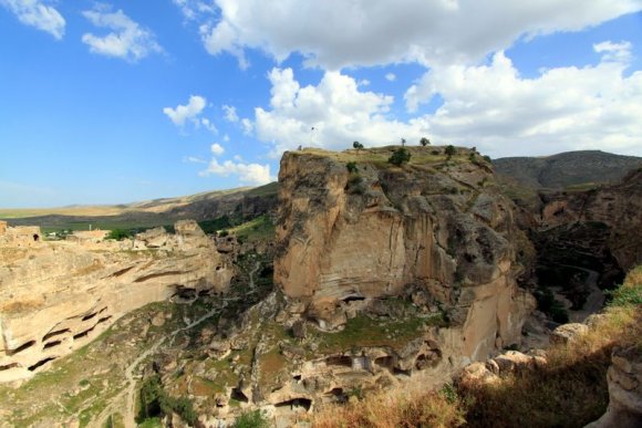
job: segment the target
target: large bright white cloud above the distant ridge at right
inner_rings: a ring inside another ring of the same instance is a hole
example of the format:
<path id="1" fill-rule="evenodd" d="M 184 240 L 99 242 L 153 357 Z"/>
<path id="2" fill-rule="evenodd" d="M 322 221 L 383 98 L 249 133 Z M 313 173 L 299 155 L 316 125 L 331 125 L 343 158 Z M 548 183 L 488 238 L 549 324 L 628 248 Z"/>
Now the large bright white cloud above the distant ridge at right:
<path id="1" fill-rule="evenodd" d="M 427 121 L 436 143 L 476 145 L 491 156 L 552 154 L 607 147 L 642 152 L 642 72 L 625 73 L 629 42 L 603 42 L 596 65 L 519 75 L 497 52 L 490 64 L 427 72 L 405 94 L 408 108 L 439 94 Z"/>

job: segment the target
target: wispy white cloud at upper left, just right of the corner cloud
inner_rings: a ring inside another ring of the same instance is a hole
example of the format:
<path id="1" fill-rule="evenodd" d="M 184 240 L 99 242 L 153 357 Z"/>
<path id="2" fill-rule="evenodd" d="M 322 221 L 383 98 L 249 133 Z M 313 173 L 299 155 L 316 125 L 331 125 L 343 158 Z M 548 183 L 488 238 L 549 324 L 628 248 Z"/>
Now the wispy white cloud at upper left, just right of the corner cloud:
<path id="1" fill-rule="evenodd" d="M 108 7 L 99 6 L 82 13 L 95 27 L 111 30 L 103 36 L 83 34 L 82 41 L 89 44 L 90 52 L 127 61 L 138 61 L 151 53 L 163 52 L 154 33 L 138 25 L 122 10 L 112 12 Z"/>

